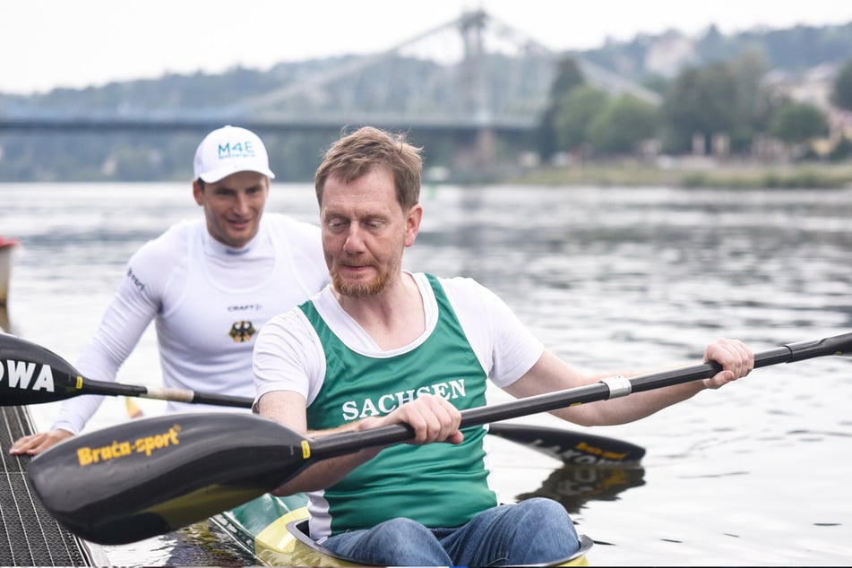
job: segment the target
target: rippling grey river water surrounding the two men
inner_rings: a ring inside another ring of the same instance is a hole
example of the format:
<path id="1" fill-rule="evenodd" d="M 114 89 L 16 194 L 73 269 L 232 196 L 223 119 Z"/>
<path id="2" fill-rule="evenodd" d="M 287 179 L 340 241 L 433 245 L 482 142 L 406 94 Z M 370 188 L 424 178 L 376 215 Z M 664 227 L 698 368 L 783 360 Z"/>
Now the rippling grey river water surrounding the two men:
<path id="1" fill-rule="evenodd" d="M 480 280 L 581 369 L 691 365 L 722 336 L 761 350 L 852 331 L 852 190 L 440 186 L 422 197 L 408 267 Z M 0 322 L 72 362 L 133 251 L 201 214 L 189 184 L 7 184 L 0 203 L 0 234 L 22 240 Z M 270 209 L 315 220 L 313 188 L 276 184 Z M 159 383 L 152 329 L 119 380 Z M 848 565 L 850 402 L 852 359 L 770 366 L 590 431 L 643 446 L 641 468 L 572 469 L 496 439 L 495 478 L 503 499 L 562 501 L 598 543 L 594 565 Z M 31 407 L 43 427 L 56 409 Z M 108 398 L 89 427 L 126 416 Z M 120 565 L 245 562 L 198 526 L 104 552 Z"/>

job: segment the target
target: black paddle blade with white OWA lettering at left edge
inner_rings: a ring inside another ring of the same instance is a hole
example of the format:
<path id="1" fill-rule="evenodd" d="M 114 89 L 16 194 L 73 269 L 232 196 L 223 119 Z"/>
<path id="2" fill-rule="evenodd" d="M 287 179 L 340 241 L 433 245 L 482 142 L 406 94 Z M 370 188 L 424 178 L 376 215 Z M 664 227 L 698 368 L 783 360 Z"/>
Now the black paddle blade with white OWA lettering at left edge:
<path id="1" fill-rule="evenodd" d="M 0 406 L 64 400 L 80 394 L 77 370 L 53 351 L 0 333 Z"/>

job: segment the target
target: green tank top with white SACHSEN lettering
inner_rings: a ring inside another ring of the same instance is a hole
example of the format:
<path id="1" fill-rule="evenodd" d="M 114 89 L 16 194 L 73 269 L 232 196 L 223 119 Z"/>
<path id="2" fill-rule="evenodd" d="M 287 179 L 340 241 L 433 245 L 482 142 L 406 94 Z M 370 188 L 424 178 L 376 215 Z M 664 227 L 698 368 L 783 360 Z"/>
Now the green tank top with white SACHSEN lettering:
<path id="1" fill-rule="evenodd" d="M 323 430 L 390 413 L 428 392 L 459 409 L 486 403 L 486 373 L 470 348 L 443 287 L 426 275 L 438 305 L 435 331 L 407 353 L 367 357 L 349 349 L 310 301 L 299 306 L 323 343 L 323 387 L 307 409 L 307 427 Z M 483 426 L 464 429 L 460 445 L 398 444 L 326 488 L 331 534 L 369 529 L 395 517 L 426 527 L 457 527 L 497 504 L 487 485 Z"/>

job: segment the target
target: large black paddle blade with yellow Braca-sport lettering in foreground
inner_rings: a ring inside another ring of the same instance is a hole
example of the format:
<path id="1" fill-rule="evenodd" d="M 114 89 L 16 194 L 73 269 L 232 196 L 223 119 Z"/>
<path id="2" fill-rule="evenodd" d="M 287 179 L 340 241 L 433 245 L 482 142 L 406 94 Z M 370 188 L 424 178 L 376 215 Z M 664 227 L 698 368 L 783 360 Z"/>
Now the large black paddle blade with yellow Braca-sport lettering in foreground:
<path id="1" fill-rule="evenodd" d="M 251 414 L 138 418 L 36 456 L 30 485 L 66 529 L 103 545 L 165 534 L 279 486 L 301 435 Z"/>

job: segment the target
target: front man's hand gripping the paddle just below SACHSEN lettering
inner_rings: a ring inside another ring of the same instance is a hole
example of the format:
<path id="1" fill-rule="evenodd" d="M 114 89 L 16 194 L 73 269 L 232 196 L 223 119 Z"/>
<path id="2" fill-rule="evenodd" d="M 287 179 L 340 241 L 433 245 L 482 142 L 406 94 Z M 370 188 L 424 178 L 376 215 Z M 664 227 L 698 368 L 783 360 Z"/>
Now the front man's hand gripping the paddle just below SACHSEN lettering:
<path id="1" fill-rule="evenodd" d="M 409 443 L 461 443 L 464 439 L 459 430 L 459 409 L 443 397 L 432 394 L 419 396 L 385 417 L 367 418 L 361 423 L 361 427 L 376 428 L 400 422 L 414 428 L 415 437 Z"/>

